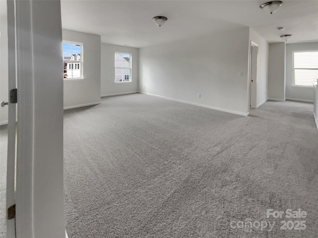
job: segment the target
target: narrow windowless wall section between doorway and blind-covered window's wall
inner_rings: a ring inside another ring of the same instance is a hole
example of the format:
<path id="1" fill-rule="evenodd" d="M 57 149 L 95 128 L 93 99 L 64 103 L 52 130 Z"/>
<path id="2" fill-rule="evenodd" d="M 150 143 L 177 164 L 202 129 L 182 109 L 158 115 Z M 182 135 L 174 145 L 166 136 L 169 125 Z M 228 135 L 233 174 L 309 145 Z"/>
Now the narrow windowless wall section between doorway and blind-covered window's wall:
<path id="1" fill-rule="evenodd" d="M 268 99 L 285 101 L 285 42 L 269 44 Z"/>

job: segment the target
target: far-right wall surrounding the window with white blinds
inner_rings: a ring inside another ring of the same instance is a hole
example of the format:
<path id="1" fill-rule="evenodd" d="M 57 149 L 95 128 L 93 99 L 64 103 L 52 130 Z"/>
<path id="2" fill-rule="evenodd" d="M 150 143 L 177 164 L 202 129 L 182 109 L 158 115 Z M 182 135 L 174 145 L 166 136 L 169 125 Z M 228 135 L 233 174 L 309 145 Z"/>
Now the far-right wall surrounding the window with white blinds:
<path id="1" fill-rule="evenodd" d="M 286 44 L 286 98 L 313 102 L 313 90 L 310 87 L 292 86 L 293 84 L 293 51 L 317 51 L 318 42 Z"/>

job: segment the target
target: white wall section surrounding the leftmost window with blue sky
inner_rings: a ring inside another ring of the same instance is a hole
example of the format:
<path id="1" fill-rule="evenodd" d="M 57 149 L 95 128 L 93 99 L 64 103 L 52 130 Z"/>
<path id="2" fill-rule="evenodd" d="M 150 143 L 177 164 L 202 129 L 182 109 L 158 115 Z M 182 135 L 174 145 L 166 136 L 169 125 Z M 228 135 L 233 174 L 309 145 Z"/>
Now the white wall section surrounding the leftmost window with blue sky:
<path id="1" fill-rule="evenodd" d="M 63 30 L 63 40 L 83 43 L 83 79 L 64 80 L 64 108 L 100 103 L 100 36 Z"/>

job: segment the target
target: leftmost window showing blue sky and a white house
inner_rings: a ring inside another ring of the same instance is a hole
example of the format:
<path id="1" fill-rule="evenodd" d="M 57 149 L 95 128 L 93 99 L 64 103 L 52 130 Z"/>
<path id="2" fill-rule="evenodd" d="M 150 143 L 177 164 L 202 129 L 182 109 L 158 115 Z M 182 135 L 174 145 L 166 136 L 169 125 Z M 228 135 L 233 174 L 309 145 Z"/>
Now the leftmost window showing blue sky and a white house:
<path id="1" fill-rule="evenodd" d="M 82 78 L 83 44 L 63 41 L 64 78 Z"/>

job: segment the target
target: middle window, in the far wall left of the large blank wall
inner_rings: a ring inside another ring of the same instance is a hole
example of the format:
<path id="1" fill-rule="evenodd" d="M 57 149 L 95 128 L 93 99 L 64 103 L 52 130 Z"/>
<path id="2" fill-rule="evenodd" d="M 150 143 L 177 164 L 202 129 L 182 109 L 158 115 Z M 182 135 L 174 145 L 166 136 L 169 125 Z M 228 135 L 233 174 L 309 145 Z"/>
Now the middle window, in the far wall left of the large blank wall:
<path id="1" fill-rule="evenodd" d="M 131 54 L 115 53 L 115 82 L 131 82 Z"/>

